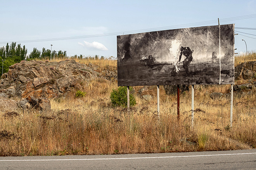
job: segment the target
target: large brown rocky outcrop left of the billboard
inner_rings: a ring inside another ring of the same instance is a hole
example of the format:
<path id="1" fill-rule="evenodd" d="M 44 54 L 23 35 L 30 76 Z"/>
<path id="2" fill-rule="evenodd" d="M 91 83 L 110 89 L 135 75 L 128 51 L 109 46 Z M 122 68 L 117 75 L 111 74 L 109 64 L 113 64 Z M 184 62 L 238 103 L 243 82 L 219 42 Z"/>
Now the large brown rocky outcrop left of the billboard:
<path id="1" fill-rule="evenodd" d="M 95 71 L 96 70 L 96 71 Z M 77 63 L 74 60 L 60 62 L 21 61 L 9 67 L 0 81 L 0 97 L 14 96 L 26 99 L 55 98 L 65 95 L 72 88 L 81 88 L 81 82 L 88 82 L 98 76 L 115 79 L 116 72 L 97 71 L 98 66 Z"/>

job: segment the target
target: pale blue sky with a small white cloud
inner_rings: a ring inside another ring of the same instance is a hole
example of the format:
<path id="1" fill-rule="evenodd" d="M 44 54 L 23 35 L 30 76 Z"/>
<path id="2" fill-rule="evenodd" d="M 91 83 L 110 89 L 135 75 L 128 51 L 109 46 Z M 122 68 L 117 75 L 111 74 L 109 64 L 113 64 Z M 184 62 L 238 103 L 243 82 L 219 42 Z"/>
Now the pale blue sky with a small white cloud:
<path id="1" fill-rule="evenodd" d="M 52 44 L 67 56 L 116 58 L 117 35 L 213 26 L 218 18 L 239 31 L 235 53 L 256 51 L 256 0 L 5 0 L 0 16 L 0 46 L 17 42 L 28 54 Z"/>

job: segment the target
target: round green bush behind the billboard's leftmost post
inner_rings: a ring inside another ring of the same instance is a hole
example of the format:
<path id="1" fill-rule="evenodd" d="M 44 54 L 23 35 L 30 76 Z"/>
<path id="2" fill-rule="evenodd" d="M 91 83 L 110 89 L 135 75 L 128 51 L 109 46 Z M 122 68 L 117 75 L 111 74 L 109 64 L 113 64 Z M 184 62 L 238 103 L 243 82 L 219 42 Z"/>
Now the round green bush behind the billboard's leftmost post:
<path id="1" fill-rule="evenodd" d="M 129 87 L 129 90 L 133 90 L 132 87 Z M 127 87 L 119 87 L 117 90 L 113 89 L 110 94 L 111 104 L 114 106 L 123 106 L 127 107 Z M 130 93 L 130 106 L 136 104 L 135 97 Z"/>

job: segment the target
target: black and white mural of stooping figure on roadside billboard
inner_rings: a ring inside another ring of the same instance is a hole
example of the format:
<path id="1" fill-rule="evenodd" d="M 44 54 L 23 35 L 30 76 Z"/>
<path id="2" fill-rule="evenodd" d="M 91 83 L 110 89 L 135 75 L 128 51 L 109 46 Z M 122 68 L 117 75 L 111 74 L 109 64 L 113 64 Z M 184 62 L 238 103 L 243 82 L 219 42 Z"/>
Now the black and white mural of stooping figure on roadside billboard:
<path id="1" fill-rule="evenodd" d="M 234 24 L 117 36 L 118 86 L 234 83 Z"/>

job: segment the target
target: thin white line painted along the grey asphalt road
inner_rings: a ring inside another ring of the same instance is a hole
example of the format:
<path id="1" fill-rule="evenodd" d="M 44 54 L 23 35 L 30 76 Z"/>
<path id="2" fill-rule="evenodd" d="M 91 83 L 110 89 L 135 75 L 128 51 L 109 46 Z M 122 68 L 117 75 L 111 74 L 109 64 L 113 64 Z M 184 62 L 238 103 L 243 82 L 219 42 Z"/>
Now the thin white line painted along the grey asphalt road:
<path id="1" fill-rule="evenodd" d="M 135 158 L 89 158 L 89 159 L 49 159 L 49 160 L 0 160 L 0 161 L 76 161 L 76 160 L 125 160 L 125 159 L 152 159 L 152 158 L 185 158 L 198 156 L 227 156 L 227 155 L 248 155 L 254 153 L 230 153 L 217 155 L 190 155 L 190 156 L 160 156 L 160 157 L 135 157 Z"/>

